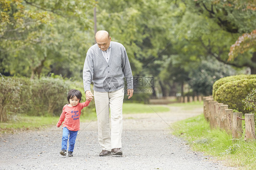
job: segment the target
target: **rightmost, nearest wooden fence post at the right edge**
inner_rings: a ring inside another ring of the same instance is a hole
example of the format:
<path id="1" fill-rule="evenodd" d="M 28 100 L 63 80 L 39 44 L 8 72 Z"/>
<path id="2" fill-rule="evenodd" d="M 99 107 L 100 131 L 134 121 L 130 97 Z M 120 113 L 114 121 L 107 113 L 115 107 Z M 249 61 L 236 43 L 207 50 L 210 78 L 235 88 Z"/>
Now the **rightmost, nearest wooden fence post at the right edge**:
<path id="1" fill-rule="evenodd" d="M 246 120 L 246 135 L 245 140 L 251 139 L 255 140 L 255 123 L 254 123 L 254 114 L 245 114 Z"/>

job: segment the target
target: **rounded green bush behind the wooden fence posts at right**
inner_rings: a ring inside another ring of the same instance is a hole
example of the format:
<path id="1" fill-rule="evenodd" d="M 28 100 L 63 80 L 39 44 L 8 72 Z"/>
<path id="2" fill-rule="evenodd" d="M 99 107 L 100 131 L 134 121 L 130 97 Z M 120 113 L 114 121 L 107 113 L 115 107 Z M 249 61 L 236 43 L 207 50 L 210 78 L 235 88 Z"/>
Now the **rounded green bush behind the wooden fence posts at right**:
<path id="1" fill-rule="evenodd" d="M 218 82 L 220 81 L 220 82 Z M 249 113 L 244 110 L 242 100 L 256 87 L 255 75 L 230 76 L 216 81 L 220 85 L 215 89 L 214 100 L 229 105 L 230 109 L 236 109 L 243 113 Z"/>

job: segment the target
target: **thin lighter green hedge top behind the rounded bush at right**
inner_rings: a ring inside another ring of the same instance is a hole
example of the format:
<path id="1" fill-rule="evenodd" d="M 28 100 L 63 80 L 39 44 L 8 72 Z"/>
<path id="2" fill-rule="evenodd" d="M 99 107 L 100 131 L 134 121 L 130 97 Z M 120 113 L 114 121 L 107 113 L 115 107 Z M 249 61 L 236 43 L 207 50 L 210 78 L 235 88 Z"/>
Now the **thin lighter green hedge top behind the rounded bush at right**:
<path id="1" fill-rule="evenodd" d="M 216 92 L 216 90 L 218 90 L 218 88 L 221 85 L 223 85 L 227 82 L 230 82 L 230 81 L 244 80 L 244 79 L 256 79 L 256 75 L 233 75 L 233 76 L 228 76 L 228 77 L 224 77 L 224 78 L 217 80 L 213 84 L 213 90 L 212 90 L 213 98 L 215 99 L 215 92 Z"/>

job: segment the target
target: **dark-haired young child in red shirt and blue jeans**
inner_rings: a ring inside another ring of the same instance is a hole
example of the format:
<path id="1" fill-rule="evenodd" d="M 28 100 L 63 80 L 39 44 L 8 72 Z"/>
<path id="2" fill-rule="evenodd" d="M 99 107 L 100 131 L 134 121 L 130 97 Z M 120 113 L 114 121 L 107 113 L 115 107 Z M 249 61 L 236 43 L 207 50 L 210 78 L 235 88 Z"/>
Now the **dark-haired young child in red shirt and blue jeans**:
<path id="1" fill-rule="evenodd" d="M 77 132 L 80 130 L 80 115 L 81 110 L 88 106 L 91 101 L 87 100 L 84 103 L 80 103 L 82 99 L 82 93 L 79 90 L 72 89 L 67 94 L 67 101 L 69 104 L 64 105 L 60 120 L 57 123 L 57 127 L 60 127 L 63 123 L 63 134 L 61 142 L 60 154 L 66 156 L 67 153 L 67 139 L 69 135 L 69 148 L 68 156 L 73 156 L 73 150 L 77 138 Z"/>

